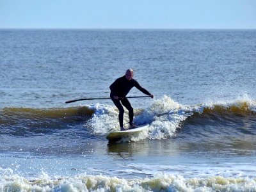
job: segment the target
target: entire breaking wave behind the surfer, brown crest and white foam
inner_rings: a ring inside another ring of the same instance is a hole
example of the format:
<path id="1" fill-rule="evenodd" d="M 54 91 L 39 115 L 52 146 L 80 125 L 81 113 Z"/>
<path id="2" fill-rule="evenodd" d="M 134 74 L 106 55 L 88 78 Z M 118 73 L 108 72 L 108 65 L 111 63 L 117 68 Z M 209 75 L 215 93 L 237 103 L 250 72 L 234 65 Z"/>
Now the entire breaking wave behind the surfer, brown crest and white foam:
<path id="1" fill-rule="evenodd" d="M 127 111 L 124 122 L 129 122 Z M 145 109 L 135 109 L 134 123 L 150 124 L 150 129 L 129 138 L 132 141 L 172 136 L 180 140 L 209 141 L 218 136 L 223 142 L 228 137 L 248 141 L 256 134 L 256 104 L 253 100 L 235 100 L 184 106 L 164 96 Z M 81 124 L 91 136 L 104 137 L 110 131 L 118 130 L 118 111 L 115 106 L 104 104 L 49 109 L 2 108 L 0 134 L 26 137 Z"/>

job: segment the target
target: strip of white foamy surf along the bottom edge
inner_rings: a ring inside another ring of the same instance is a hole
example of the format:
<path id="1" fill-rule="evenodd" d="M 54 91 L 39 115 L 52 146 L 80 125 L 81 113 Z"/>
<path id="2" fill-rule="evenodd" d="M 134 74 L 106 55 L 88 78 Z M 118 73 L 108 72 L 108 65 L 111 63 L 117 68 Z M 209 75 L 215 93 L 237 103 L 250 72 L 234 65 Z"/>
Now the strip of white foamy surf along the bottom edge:
<path id="1" fill-rule="evenodd" d="M 193 174 L 193 173 L 192 173 Z M 106 175 L 79 174 L 69 177 L 42 173 L 35 178 L 0 175 L 1 191 L 255 191 L 249 177 L 192 177 L 156 173 L 153 177 L 122 179 Z"/>

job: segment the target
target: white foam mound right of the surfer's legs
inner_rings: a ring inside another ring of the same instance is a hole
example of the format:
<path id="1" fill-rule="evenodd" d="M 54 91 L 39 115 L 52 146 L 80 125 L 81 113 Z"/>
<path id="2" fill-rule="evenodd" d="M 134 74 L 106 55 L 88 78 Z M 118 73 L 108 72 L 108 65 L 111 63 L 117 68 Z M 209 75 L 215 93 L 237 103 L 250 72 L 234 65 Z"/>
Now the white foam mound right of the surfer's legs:
<path id="1" fill-rule="evenodd" d="M 175 134 L 180 122 L 184 121 L 190 113 L 185 106 L 175 102 L 170 97 L 164 95 L 161 99 L 155 99 L 143 113 L 136 116 L 136 124 L 150 124 L 147 132 L 142 132 L 138 136 L 133 136 L 132 141 L 160 140 Z"/>

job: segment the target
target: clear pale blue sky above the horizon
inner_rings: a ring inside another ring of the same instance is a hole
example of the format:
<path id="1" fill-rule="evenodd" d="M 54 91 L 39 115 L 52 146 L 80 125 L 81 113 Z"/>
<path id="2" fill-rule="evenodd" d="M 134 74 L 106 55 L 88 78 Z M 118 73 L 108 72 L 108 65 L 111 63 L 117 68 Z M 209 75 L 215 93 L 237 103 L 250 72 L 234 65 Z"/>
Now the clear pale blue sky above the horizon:
<path id="1" fill-rule="evenodd" d="M 256 0 L 0 0 L 0 28 L 256 29 Z"/>

